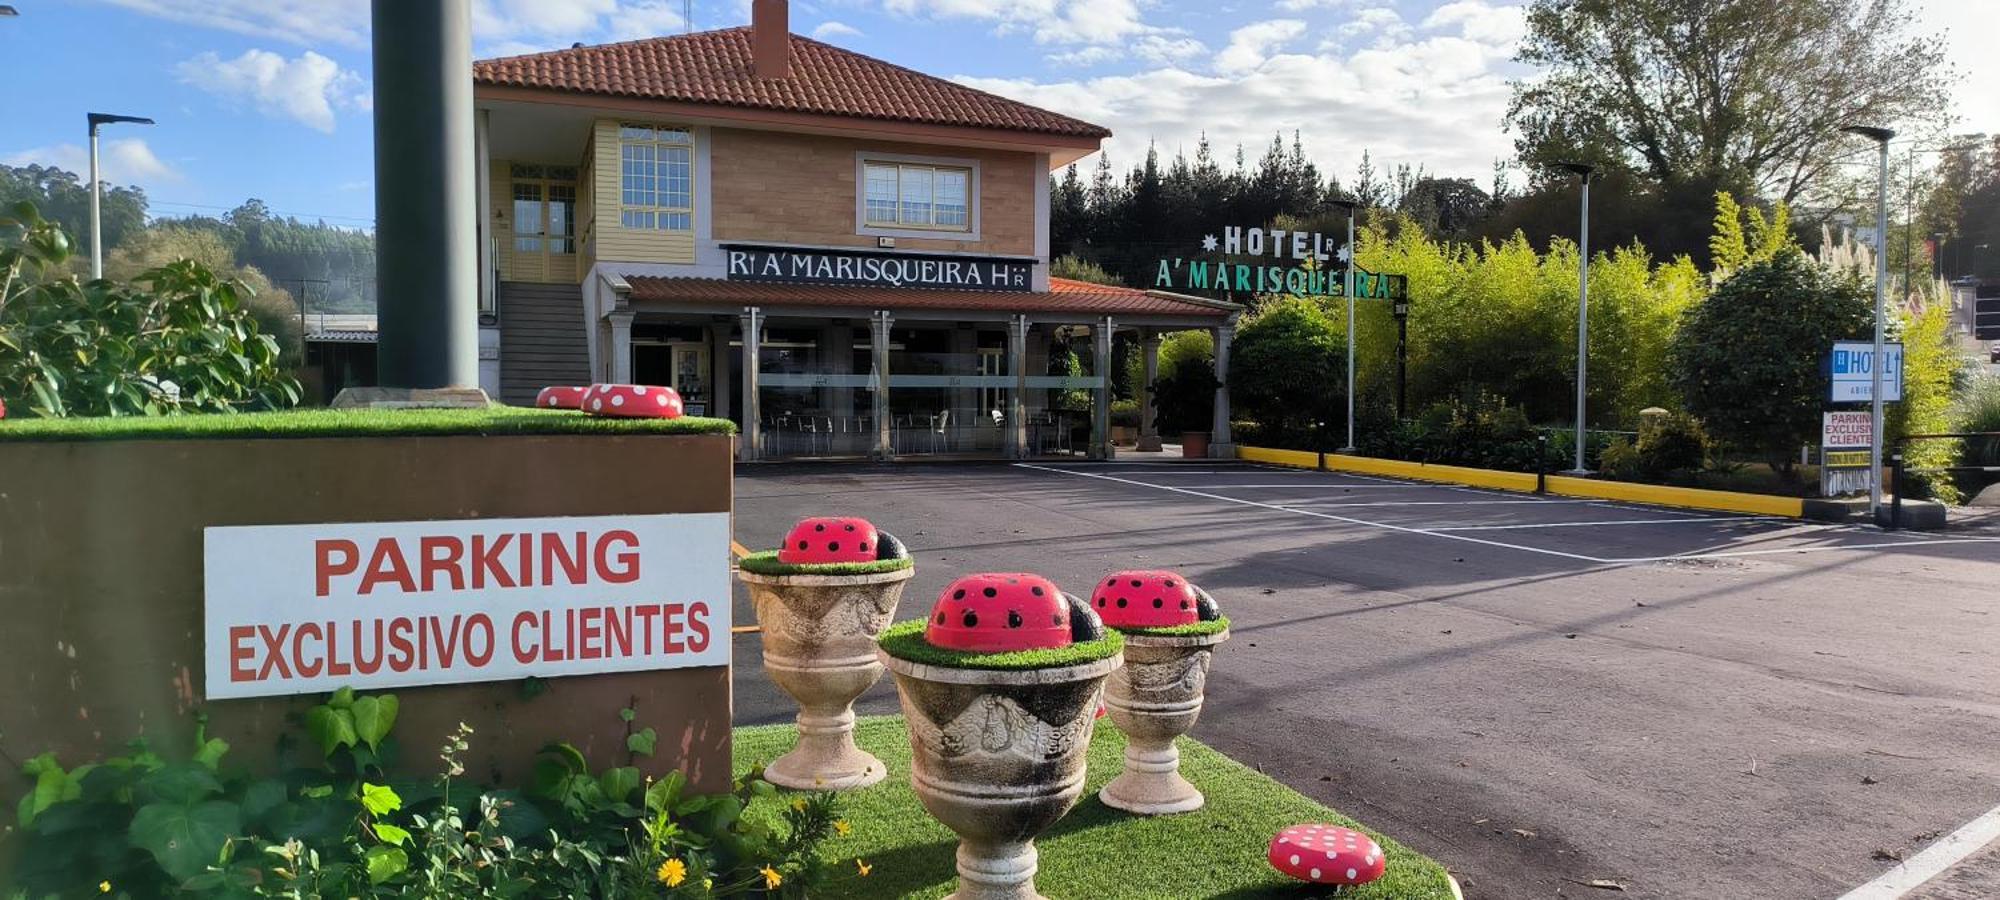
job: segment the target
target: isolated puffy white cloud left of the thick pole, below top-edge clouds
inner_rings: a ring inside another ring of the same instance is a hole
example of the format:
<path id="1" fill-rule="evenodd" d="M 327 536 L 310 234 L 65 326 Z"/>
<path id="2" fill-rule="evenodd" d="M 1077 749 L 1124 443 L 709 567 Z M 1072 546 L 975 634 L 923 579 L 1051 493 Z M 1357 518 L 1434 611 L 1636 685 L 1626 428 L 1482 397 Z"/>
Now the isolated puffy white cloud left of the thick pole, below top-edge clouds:
<path id="1" fill-rule="evenodd" d="M 292 118 L 328 134 L 334 110 L 370 106 L 362 76 L 312 50 L 292 60 L 270 50 L 244 50 L 234 60 L 204 52 L 174 66 L 174 74 L 220 98 L 248 102 L 266 116 Z"/>

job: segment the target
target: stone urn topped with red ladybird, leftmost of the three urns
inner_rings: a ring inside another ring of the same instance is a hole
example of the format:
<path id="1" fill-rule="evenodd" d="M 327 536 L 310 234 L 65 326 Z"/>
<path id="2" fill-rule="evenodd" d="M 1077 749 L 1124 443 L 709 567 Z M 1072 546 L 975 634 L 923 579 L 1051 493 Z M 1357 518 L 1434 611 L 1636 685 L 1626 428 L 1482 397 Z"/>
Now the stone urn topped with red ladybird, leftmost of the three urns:
<path id="1" fill-rule="evenodd" d="M 854 698 L 882 678 L 874 640 L 916 574 L 908 550 L 862 518 L 808 518 L 784 546 L 738 560 L 764 638 L 764 672 L 798 702 L 798 746 L 764 778 L 798 790 L 880 782 L 854 746 Z"/>

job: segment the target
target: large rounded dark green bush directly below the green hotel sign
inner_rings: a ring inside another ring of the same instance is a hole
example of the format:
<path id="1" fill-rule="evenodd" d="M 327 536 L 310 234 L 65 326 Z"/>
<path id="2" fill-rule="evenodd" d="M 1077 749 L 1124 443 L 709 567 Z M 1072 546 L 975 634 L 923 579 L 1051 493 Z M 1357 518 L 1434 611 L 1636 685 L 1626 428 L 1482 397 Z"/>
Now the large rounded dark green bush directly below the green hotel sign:
<path id="1" fill-rule="evenodd" d="M 1230 396 L 1270 428 L 1266 440 L 1296 440 L 1344 420 L 1340 384 L 1346 350 L 1318 302 L 1280 298 L 1246 318 L 1230 356 Z"/>

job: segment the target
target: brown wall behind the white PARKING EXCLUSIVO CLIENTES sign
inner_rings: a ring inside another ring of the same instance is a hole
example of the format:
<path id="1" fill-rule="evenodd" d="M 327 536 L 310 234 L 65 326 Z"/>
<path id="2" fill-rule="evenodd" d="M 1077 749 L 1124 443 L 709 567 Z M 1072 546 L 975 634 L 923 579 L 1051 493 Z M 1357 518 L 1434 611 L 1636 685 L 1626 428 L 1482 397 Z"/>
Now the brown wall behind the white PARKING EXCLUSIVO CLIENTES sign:
<path id="1" fill-rule="evenodd" d="M 202 702 L 204 526 L 728 512 L 730 464 L 728 436 L 0 444 L 0 808 L 42 750 L 74 766 L 144 734 L 184 754 L 196 708 L 236 764 L 268 766 L 280 732 L 302 734 L 286 716 L 318 694 Z M 546 686 L 532 700 L 522 682 L 394 690 L 404 764 L 430 766 L 464 720 L 478 780 L 518 784 L 550 740 L 622 766 L 632 706 L 660 732 L 642 770 L 726 790 L 726 666 Z"/>

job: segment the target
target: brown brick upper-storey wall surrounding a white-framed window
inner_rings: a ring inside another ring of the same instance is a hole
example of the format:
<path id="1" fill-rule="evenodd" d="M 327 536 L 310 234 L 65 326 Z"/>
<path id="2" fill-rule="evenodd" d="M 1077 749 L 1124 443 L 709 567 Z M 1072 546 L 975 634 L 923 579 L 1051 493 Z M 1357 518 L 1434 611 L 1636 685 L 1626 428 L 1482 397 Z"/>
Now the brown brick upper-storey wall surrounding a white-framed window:
<path id="1" fill-rule="evenodd" d="M 874 248 L 854 230 L 856 152 L 980 162 L 980 240 L 896 238 L 898 250 L 1034 256 L 1034 154 L 740 128 L 710 134 L 716 240 Z"/>

